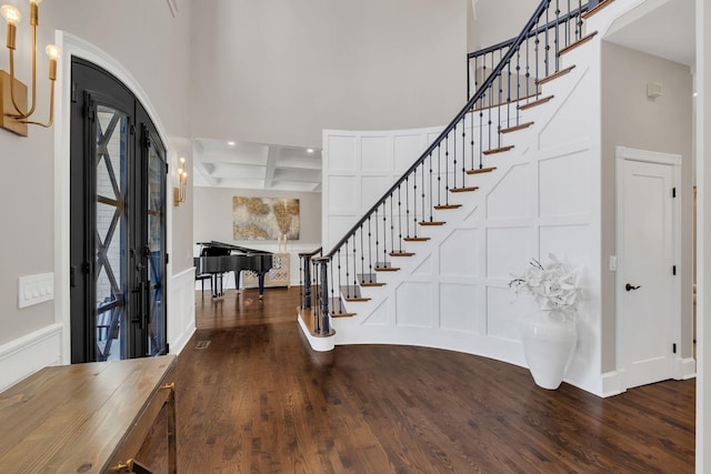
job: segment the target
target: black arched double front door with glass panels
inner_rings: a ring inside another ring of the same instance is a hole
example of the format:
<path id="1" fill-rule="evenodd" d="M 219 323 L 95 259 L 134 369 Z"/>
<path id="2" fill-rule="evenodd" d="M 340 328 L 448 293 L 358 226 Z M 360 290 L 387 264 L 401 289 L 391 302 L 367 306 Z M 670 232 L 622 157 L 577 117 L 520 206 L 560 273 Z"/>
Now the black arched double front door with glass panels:
<path id="1" fill-rule="evenodd" d="M 166 149 L 117 78 L 77 58 L 71 75 L 71 360 L 162 354 Z"/>

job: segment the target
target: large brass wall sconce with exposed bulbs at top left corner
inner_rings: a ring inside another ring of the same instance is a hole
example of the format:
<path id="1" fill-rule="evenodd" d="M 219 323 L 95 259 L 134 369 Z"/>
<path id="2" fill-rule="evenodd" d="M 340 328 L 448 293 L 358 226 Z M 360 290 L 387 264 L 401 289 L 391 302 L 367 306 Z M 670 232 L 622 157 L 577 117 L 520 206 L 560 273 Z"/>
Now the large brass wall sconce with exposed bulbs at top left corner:
<path id="1" fill-rule="evenodd" d="M 28 87 L 14 77 L 14 49 L 17 37 L 17 24 L 21 19 L 20 11 L 9 4 L 0 8 L 0 13 L 8 23 L 8 36 L 6 48 L 10 58 L 10 73 L 0 71 L 0 128 L 9 130 L 21 137 L 27 137 L 28 124 L 44 128 L 52 127 L 54 121 L 54 81 L 57 80 L 57 61 L 62 56 L 62 50 L 48 44 L 44 49 L 49 57 L 49 121 L 47 123 L 30 120 L 37 105 L 37 27 L 39 26 L 39 4 L 42 0 L 30 0 L 30 27 L 32 29 L 32 105 L 28 109 L 27 95 Z"/>

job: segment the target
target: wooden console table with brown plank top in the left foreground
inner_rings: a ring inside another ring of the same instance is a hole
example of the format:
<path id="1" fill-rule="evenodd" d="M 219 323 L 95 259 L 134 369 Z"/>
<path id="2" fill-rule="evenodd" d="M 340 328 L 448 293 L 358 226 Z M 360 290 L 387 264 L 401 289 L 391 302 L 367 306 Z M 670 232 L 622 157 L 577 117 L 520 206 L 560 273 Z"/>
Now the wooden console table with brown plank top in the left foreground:
<path id="1" fill-rule="evenodd" d="M 44 367 L 0 393 L 0 471 L 150 472 L 133 456 L 167 407 L 174 473 L 174 363 L 163 355 Z"/>

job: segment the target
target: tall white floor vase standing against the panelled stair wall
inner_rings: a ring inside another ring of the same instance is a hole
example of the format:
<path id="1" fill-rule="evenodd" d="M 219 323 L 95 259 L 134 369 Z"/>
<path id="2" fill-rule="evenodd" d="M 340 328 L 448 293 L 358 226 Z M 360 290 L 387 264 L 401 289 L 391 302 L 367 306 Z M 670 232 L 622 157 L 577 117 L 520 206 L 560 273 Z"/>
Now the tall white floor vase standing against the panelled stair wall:
<path id="1" fill-rule="evenodd" d="M 535 384 L 555 390 L 563 381 L 575 349 L 574 319 L 562 311 L 535 311 L 521 321 L 521 341 Z"/>

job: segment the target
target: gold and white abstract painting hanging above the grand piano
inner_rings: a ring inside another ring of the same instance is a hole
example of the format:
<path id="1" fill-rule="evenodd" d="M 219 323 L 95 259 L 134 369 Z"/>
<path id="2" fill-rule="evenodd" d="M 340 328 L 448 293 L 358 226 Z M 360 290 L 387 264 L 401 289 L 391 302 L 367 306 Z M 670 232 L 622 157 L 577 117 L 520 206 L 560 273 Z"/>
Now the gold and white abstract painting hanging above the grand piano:
<path id="1" fill-rule="evenodd" d="M 232 198 L 234 240 L 299 239 L 299 200 Z"/>

